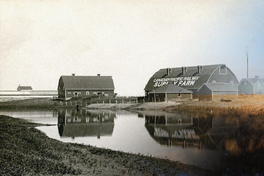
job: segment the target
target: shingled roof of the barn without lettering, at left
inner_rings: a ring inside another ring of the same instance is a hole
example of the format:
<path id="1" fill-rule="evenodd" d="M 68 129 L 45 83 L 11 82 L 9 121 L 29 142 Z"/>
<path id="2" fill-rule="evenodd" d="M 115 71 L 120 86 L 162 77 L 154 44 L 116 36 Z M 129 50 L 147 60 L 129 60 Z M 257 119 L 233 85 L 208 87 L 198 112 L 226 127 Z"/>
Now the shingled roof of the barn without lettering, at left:
<path id="1" fill-rule="evenodd" d="M 115 89 L 112 76 L 61 76 L 60 79 L 65 90 Z"/>

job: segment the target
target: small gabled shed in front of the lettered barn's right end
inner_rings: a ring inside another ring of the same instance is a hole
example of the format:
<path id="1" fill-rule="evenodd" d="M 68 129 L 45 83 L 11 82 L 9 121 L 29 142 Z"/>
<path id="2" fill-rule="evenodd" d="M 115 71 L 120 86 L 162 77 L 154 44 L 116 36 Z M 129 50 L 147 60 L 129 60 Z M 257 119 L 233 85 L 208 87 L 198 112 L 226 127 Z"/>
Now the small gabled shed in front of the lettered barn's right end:
<path id="1" fill-rule="evenodd" d="M 199 100 L 209 101 L 238 95 L 238 89 L 232 83 L 205 83 L 197 92 Z"/>

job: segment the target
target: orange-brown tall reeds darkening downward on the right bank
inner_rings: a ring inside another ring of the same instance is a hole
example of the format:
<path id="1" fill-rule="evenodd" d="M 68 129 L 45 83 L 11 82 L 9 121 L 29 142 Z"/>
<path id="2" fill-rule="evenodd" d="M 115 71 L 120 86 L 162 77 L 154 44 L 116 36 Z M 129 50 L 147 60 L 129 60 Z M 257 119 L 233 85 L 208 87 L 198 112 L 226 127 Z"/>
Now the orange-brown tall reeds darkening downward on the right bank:
<path id="1" fill-rule="evenodd" d="M 232 173 L 264 175 L 264 107 L 171 106 L 167 111 L 188 112 L 199 118 L 213 117 L 207 131 L 212 142 L 227 151 Z"/>

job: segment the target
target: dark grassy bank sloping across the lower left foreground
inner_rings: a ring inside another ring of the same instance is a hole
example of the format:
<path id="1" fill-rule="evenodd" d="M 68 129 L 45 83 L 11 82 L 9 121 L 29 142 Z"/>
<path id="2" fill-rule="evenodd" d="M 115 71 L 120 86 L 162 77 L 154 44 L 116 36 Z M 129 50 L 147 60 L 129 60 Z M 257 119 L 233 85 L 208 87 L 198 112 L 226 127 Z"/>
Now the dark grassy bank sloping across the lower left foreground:
<path id="1" fill-rule="evenodd" d="M 166 159 L 63 143 L 36 125 L 0 116 L 0 175 L 219 175 Z"/>

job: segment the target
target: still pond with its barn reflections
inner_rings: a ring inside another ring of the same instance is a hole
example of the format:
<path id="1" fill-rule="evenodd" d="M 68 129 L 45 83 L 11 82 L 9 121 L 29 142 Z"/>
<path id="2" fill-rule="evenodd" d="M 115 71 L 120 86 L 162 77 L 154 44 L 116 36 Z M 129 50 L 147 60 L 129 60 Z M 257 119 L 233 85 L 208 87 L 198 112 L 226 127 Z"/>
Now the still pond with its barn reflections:
<path id="1" fill-rule="evenodd" d="M 214 171 L 225 167 L 224 151 L 217 150 L 207 131 L 214 119 L 185 113 L 125 110 L 56 110 L 4 112 L 42 124 L 37 129 L 63 142 L 151 155 Z"/>

